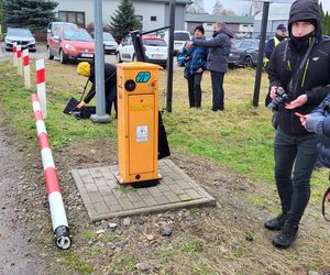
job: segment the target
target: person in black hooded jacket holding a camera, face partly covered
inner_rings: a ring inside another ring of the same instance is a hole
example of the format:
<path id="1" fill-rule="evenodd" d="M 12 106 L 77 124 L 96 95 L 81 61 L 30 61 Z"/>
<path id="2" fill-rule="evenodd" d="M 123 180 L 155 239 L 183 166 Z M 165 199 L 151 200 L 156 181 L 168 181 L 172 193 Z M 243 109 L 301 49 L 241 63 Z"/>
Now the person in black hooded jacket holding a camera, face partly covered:
<path id="1" fill-rule="evenodd" d="M 271 98 L 277 97 L 278 88 L 288 95 L 279 106 L 274 142 L 282 213 L 265 222 L 266 229 L 282 230 L 273 240 L 279 249 L 289 248 L 297 238 L 318 158 L 318 136 L 301 125 L 295 112 L 310 113 L 327 97 L 330 85 L 330 40 L 322 36 L 317 0 L 292 4 L 288 33 L 289 40 L 279 43 L 272 54 L 268 69 Z"/>

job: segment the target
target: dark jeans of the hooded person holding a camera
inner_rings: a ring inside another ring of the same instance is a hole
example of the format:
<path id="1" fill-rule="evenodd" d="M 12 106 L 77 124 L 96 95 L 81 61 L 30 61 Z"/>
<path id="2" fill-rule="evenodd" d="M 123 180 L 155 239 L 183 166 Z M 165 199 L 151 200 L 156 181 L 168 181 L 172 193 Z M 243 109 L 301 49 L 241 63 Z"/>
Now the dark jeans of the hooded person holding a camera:
<path id="1" fill-rule="evenodd" d="M 282 212 L 287 222 L 298 226 L 310 197 L 310 177 L 318 158 L 316 134 L 292 135 L 277 127 L 275 153 L 275 179 Z"/>

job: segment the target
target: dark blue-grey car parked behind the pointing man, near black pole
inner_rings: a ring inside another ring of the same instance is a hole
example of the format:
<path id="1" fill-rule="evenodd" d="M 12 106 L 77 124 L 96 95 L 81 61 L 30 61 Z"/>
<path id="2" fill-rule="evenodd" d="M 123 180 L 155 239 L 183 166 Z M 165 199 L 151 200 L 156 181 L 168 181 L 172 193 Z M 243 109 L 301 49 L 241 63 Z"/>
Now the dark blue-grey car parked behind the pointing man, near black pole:
<path id="1" fill-rule="evenodd" d="M 229 66 L 254 67 L 258 56 L 258 40 L 238 40 L 231 45 Z"/>

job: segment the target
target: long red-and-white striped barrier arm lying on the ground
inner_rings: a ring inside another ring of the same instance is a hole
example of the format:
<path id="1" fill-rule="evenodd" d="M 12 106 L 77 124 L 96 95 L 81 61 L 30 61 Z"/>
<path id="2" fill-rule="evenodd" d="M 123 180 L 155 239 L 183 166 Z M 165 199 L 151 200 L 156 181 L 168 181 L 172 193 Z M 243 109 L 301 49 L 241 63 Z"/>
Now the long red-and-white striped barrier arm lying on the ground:
<path id="1" fill-rule="evenodd" d="M 43 167 L 44 167 L 44 177 L 45 177 L 46 189 L 48 194 L 48 204 L 51 209 L 53 231 L 56 237 L 57 246 L 66 250 L 70 246 L 72 240 L 69 237 L 69 228 L 68 228 L 64 204 L 61 195 L 59 180 L 53 161 L 53 154 L 48 142 L 48 134 L 46 132 L 46 127 L 43 120 L 43 114 L 41 111 L 38 98 L 35 94 L 33 94 L 31 96 L 31 100 L 33 105 L 35 124 L 36 124 L 37 141 L 38 141 Z"/>

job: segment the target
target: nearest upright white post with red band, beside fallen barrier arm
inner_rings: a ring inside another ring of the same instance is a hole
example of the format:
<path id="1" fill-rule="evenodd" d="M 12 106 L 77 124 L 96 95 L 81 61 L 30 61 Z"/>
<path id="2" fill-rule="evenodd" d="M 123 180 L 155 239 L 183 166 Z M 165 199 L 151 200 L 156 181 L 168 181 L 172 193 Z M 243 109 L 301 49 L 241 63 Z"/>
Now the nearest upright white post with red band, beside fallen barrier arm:
<path id="1" fill-rule="evenodd" d="M 35 64 L 36 69 L 36 94 L 43 112 L 43 118 L 47 118 L 46 103 L 46 82 L 45 82 L 45 61 L 38 59 Z"/>

